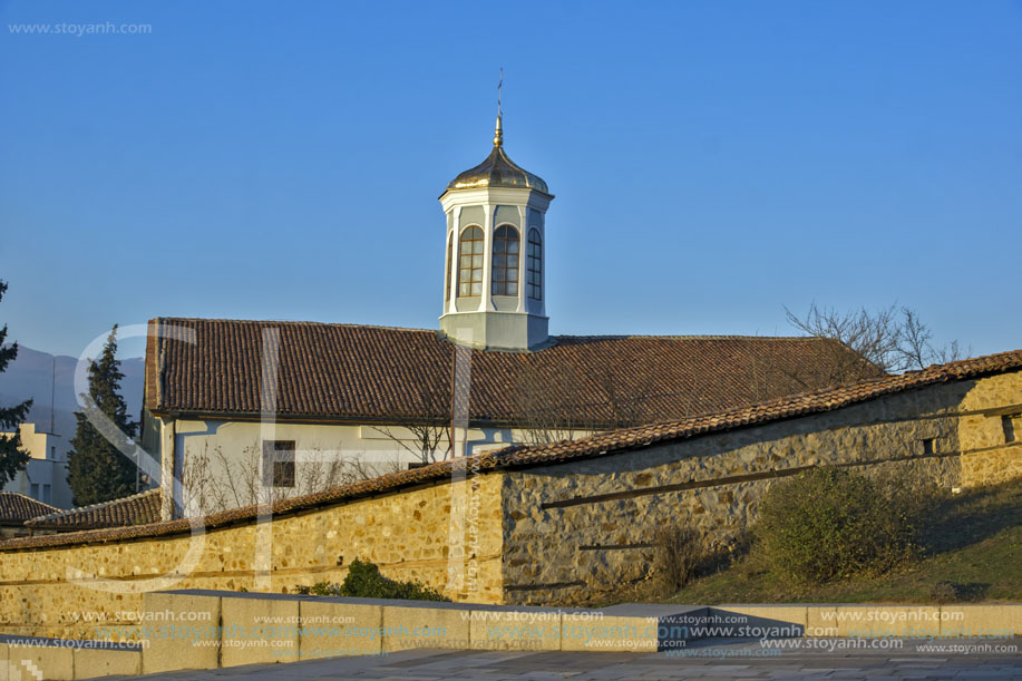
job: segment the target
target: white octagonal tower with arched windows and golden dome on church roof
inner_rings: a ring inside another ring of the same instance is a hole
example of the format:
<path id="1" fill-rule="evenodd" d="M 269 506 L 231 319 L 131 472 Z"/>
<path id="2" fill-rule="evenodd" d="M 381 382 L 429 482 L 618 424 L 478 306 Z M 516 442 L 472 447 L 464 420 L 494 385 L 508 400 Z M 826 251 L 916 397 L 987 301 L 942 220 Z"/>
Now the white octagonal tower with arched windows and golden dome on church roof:
<path id="1" fill-rule="evenodd" d="M 548 342 L 546 210 L 554 195 L 504 152 L 502 114 L 486 160 L 447 185 L 440 332 L 486 350 L 527 351 Z"/>

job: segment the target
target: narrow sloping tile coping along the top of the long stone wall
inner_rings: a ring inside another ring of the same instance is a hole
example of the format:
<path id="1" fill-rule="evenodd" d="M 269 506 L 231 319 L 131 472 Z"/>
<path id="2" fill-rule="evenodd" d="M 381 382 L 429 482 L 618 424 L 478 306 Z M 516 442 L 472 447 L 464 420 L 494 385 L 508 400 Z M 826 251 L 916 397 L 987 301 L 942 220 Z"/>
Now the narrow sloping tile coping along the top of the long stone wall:
<path id="1" fill-rule="evenodd" d="M 833 411 L 850 405 L 865 402 L 886 395 L 894 395 L 950 381 L 965 380 L 981 376 L 1019 371 L 1022 369 L 1022 350 L 989 354 L 970 360 L 934 364 L 922 371 L 868 380 L 854 386 L 831 388 L 812 393 L 798 395 L 717 415 L 704 415 L 680 421 L 654 424 L 602 432 L 578 440 L 543 446 L 515 446 L 507 449 L 480 454 L 473 457 L 441 461 L 421 468 L 403 470 L 343 485 L 322 492 L 282 499 L 273 504 L 274 514 L 341 503 L 362 496 L 393 492 L 402 487 L 450 479 L 458 470 L 487 473 L 502 468 L 518 468 L 558 464 L 572 459 L 604 456 L 649 447 L 659 442 L 699 437 L 736 428 L 744 428 L 797 418 L 812 414 Z M 0 543 L 0 549 L 35 548 L 43 546 L 118 542 L 133 538 L 184 534 L 193 526 L 206 529 L 235 523 L 251 522 L 257 517 L 259 507 L 247 506 L 217 513 L 196 521 L 172 521 L 142 527 L 123 527 L 68 535 L 51 535 L 8 539 Z"/>

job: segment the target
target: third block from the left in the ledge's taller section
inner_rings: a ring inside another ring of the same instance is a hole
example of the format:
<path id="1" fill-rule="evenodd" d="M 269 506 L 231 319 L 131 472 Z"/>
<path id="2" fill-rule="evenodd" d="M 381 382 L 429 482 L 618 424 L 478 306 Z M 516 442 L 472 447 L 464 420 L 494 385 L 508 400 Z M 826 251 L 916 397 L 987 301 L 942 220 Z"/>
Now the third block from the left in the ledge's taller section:
<path id="1" fill-rule="evenodd" d="M 302 660 L 379 655 L 383 652 L 383 606 L 332 600 L 299 604 Z"/>

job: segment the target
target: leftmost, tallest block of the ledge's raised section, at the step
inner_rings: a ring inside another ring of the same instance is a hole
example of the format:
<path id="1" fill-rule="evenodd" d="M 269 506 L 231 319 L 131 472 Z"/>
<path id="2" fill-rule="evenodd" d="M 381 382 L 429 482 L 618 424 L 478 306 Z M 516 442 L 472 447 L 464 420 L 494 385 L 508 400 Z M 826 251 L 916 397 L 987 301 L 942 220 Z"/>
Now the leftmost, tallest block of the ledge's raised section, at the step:
<path id="1" fill-rule="evenodd" d="M 220 609 L 216 592 L 145 594 L 143 612 L 150 629 L 143 629 L 142 672 L 220 667 Z"/>

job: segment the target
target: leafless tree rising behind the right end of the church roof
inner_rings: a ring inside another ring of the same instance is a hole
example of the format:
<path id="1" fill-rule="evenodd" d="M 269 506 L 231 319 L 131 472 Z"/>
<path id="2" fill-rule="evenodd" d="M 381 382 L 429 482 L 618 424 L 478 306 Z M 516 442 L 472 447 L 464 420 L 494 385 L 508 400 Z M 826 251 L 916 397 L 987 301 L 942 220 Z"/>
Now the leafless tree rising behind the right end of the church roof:
<path id="1" fill-rule="evenodd" d="M 785 313 L 792 327 L 808 335 L 838 341 L 827 350 L 835 383 L 863 378 L 867 369 L 864 362 L 885 373 L 897 373 L 960 359 L 963 354 L 957 341 L 934 347 L 929 328 L 909 308 L 890 305 L 876 312 L 866 308 L 840 312 L 814 302 L 805 317 L 788 308 Z"/>

